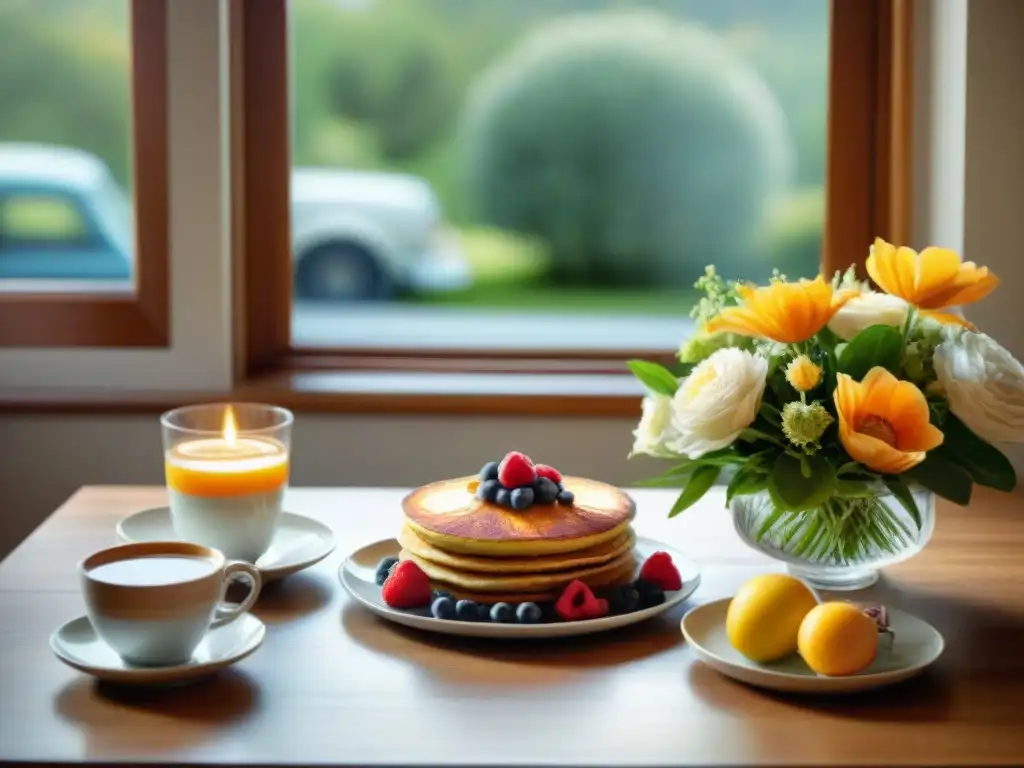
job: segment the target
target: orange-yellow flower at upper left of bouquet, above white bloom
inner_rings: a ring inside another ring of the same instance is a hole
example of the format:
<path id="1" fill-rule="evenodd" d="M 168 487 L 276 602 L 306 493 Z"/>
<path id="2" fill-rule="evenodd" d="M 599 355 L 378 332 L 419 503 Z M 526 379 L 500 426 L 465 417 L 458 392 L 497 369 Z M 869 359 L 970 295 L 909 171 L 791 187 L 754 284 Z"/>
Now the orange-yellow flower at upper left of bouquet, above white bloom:
<path id="1" fill-rule="evenodd" d="M 736 293 L 744 306 L 726 307 L 709 321 L 708 333 L 734 333 L 771 339 L 783 344 L 807 341 L 828 325 L 828 321 L 856 291 L 833 292 L 821 275 L 799 283 L 772 283 L 763 288 L 738 286 Z"/>

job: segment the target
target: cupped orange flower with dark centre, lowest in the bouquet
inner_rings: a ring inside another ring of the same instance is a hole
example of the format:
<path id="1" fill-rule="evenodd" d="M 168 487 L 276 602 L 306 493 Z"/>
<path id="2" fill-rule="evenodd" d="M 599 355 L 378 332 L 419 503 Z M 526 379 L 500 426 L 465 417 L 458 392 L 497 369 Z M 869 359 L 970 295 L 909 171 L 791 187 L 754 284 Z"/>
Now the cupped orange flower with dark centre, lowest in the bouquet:
<path id="1" fill-rule="evenodd" d="M 942 443 L 942 432 L 928 420 L 925 395 L 884 368 L 872 368 L 859 384 L 840 374 L 835 399 L 843 447 L 876 472 L 905 472 Z"/>

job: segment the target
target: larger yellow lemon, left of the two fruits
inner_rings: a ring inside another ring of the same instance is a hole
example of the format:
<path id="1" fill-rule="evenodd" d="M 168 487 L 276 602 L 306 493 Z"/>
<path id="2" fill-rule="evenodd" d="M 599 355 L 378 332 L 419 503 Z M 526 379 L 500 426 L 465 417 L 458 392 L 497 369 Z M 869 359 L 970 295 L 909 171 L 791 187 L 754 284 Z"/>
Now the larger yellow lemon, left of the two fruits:
<path id="1" fill-rule="evenodd" d="M 796 652 L 800 623 L 815 605 L 814 593 L 799 579 L 765 573 L 732 598 L 725 631 L 732 647 L 752 662 L 777 662 Z"/>

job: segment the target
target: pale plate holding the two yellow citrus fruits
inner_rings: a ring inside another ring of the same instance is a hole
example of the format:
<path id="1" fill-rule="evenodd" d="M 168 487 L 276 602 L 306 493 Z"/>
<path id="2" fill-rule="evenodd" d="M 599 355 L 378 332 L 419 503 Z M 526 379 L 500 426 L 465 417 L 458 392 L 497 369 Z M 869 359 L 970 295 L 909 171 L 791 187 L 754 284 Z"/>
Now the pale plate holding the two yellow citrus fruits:
<path id="1" fill-rule="evenodd" d="M 847 677 L 823 677 L 811 671 L 798 654 L 762 665 L 732 647 L 725 633 L 725 614 L 731 598 L 698 605 L 683 616 L 683 635 L 697 658 L 734 680 L 787 693 L 856 693 L 901 682 L 922 672 L 942 653 L 942 635 L 932 625 L 909 613 L 888 608 L 892 643 L 879 638 L 879 655 L 863 672 Z"/>

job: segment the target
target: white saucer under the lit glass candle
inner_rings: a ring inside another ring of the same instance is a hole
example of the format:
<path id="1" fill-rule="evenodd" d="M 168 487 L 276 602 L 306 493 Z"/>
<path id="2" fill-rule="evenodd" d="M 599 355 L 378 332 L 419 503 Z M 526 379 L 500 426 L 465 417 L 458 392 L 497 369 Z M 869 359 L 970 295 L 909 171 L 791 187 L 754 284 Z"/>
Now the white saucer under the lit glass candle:
<path id="1" fill-rule="evenodd" d="M 118 523 L 118 538 L 123 542 L 174 542 L 178 537 L 171 525 L 167 507 L 145 509 Z M 284 579 L 318 563 L 334 552 L 334 532 L 311 517 L 282 512 L 270 548 L 255 565 L 263 582 Z"/>

